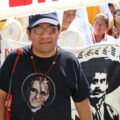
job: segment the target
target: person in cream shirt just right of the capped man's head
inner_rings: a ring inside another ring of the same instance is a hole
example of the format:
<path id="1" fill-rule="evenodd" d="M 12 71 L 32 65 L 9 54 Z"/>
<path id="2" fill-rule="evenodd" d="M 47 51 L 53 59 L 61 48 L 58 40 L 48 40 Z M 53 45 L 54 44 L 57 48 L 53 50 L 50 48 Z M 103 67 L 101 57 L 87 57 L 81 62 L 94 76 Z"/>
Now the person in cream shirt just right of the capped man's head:
<path id="1" fill-rule="evenodd" d="M 76 17 L 76 10 L 67 10 L 63 12 L 62 28 L 58 44 L 61 47 L 79 48 L 85 45 L 85 39 L 82 33 L 71 26 Z"/>

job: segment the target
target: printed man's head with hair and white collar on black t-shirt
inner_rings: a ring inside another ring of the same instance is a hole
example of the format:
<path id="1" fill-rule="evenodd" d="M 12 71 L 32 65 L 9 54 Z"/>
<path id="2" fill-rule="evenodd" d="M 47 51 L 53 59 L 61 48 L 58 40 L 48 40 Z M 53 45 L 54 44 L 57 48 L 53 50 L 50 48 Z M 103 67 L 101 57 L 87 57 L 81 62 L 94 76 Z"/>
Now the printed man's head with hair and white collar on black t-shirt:
<path id="1" fill-rule="evenodd" d="M 41 77 L 31 81 L 28 93 L 28 105 L 33 112 L 41 109 L 49 97 L 49 82 Z"/>

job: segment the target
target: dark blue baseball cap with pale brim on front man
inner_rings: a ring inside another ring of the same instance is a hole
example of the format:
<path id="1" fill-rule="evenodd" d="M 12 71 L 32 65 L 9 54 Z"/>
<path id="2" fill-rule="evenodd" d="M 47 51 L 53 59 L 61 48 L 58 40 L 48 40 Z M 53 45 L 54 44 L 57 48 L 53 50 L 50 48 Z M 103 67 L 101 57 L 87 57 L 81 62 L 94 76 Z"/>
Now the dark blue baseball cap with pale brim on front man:
<path id="1" fill-rule="evenodd" d="M 59 25 L 59 19 L 56 12 L 48 14 L 37 14 L 29 16 L 28 28 L 33 28 L 40 23 L 49 23 L 55 26 Z"/>

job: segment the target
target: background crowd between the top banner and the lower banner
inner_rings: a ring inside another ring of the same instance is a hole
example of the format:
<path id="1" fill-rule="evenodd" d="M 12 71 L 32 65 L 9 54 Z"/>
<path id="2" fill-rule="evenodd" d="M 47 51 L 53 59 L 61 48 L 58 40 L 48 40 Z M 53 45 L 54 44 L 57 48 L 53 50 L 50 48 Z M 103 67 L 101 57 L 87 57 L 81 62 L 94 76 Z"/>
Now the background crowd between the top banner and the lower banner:
<path id="1" fill-rule="evenodd" d="M 90 6 L 58 12 L 61 23 L 58 45 L 79 48 L 100 42 L 119 40 L 119 5 L 106 3 L 105 6 L 108 7 L 107 11 L 103 10 L 101 6 Z M 1 40 L 4 38 L 29 42 L 26 35 L 27 23 L 27 17 L 0 21 Z"/>

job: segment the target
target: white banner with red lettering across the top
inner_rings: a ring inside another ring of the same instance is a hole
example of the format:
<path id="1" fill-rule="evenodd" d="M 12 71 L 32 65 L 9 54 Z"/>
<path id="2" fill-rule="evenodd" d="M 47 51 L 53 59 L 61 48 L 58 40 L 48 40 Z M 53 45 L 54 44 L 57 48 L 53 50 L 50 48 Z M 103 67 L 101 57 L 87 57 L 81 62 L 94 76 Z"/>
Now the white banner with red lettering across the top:
<path id="1" fill-rule="evenodd" d="M 37 13 L 77 9 L 120 0 L 0 0 L 0 19 L 24 17 Z"/>

